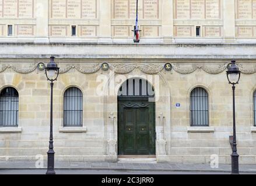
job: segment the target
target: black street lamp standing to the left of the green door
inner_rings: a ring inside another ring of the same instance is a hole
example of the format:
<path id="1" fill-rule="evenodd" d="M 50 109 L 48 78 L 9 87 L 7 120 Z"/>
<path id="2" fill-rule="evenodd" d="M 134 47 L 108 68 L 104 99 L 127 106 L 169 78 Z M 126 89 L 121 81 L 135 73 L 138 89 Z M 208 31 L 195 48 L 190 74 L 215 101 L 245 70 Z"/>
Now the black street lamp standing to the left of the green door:
<path id="1" fill-rule="evenodd" d="M 46 174 L 55 174 L 54 171 L 54 150 L 53 150 L 53 137 L 52 137 L 52 88 L 53 81 L 57 80 L 59 76 L 59 67 L 54 62 L 54 56 L 51 56 L 50 63 L 45 67 L 45 74 L 47 77 L 47 81 L 51 81 L 51 113 L 50 113 L 50 141 L 49 141 L 49 150 L 47 152 L 47 172 Z"/>

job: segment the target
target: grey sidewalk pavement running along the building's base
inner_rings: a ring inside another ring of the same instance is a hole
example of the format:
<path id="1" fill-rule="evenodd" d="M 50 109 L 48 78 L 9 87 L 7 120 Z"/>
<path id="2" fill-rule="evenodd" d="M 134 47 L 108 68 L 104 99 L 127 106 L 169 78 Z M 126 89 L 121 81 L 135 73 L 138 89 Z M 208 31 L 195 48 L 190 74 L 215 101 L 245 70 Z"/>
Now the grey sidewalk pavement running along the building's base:
<path id="1" fill-rule="evenodd" d="M 45 169 L 37 162 L 0 162 L 0 169 Z M 211 164 L 197 163 L 108 163 L 108 162 L 55 162 L 55 169 L 73 170 L 147 170 L 147 171 L 199 171 L 230 173 L 230 164 L 219 164 L 211 168 Z M 240 164 L 240 173 L 256 174 L 256 164 Z"/>

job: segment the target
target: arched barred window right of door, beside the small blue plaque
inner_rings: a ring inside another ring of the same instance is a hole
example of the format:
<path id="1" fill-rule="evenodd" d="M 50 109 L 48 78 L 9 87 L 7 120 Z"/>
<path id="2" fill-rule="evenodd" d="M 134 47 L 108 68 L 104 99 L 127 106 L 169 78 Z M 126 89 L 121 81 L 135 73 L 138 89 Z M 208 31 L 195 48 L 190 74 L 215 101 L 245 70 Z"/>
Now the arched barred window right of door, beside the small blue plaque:
<path id="1" fill-rule="evenodd" d="M 191 126 L 209 126 L 208 93 L 204 88 L 197 87 L 190 95 Z"/>

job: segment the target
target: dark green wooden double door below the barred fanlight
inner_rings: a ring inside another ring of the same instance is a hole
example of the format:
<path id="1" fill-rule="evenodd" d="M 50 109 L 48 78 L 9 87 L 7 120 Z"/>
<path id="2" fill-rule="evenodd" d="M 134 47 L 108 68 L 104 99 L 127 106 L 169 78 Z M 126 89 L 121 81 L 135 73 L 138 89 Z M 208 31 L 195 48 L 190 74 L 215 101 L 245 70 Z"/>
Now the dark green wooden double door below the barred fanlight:
<path id="1" fill-rule="evenodd" d="M 155 155 L 155 102 L 118 99 L 118 155 Z"/>

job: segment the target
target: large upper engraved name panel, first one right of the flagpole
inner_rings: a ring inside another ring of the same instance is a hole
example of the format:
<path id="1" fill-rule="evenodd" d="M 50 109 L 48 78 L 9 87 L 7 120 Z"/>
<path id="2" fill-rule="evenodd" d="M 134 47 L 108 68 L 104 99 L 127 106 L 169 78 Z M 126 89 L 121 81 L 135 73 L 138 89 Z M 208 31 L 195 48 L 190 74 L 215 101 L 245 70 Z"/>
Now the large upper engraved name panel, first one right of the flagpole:
<path id="1" fill-rule="evenodd" d="M 220 19 L 220 0 L 175 0 L 176 19 Z"/>

